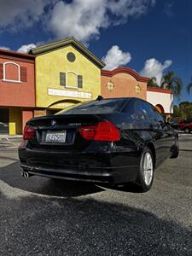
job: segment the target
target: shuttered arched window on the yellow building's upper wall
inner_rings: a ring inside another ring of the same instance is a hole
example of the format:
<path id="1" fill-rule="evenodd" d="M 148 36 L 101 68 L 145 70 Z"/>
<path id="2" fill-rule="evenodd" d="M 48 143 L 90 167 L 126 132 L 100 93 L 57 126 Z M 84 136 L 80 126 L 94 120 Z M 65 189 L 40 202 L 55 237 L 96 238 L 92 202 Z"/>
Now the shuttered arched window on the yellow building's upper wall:
<path id="1" fill-rule="evenodd" d="M 83 76 L 71 71 L 60 73 L 60 85 L 71 89 L 83 88 Z"/>

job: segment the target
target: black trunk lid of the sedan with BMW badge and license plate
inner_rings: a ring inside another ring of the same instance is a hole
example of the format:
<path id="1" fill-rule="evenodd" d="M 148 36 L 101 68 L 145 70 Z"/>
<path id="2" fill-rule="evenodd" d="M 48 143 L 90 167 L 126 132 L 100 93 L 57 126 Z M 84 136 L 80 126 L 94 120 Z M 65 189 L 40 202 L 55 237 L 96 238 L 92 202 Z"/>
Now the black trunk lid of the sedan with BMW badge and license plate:
<path id="1" fill-rule="evenodd" d="M 102 116 L 94 114 L 53 115 L 32 119 L 27 122 L 35 130 L 35 137 L 29 141 L 30 147 L 62 151 L 84 150 L 91 142 L 84 140 L 79 127 L 96 125 L 102 119 Z"/>

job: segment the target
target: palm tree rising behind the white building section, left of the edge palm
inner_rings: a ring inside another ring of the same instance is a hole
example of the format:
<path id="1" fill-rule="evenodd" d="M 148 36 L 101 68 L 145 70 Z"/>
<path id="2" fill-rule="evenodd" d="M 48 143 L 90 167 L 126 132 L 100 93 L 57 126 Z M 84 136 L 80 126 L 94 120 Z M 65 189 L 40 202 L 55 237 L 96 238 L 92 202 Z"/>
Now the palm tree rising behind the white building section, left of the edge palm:
<path id="1" fill-rule="evenodd" d="M 173 71 L 168 71 L 163 75 L 160 87 L 167 90 L 172 90 L 173 95 L 179 99 L 183 87 L 183 81 L 182 79 L 177 78 Z"/>

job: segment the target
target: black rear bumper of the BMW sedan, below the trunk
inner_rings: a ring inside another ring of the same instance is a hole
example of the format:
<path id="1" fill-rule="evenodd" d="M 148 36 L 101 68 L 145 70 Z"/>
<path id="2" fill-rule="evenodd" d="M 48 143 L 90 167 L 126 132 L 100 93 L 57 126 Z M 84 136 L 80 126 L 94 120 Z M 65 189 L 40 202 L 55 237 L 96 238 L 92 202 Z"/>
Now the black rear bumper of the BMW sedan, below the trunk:
<path id="1" fill-rule="evenodd" d="M 20 166 L 31 175 L 93 183 L 125 183 L 137 177 L 139 159 L 130 153 L 43 152 L 19 148 Z"/>

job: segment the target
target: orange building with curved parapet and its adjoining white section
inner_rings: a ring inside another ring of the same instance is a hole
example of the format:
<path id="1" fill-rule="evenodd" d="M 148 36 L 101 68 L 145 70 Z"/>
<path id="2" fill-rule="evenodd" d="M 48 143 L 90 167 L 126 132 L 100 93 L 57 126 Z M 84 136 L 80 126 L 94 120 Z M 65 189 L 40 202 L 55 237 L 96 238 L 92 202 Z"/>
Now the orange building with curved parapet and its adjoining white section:
<path id="1" fill-rule="evenodd" d="M 104 98 L 138 97 L 150 102 L 164 113 L 166 117 L 172 114 L 172 90 L 149 87 L 148 78 L 140 76 L 128 67 L 115 68 L 112 71 L 102 70 L 101 91 Z"/>

